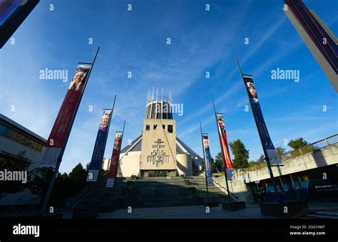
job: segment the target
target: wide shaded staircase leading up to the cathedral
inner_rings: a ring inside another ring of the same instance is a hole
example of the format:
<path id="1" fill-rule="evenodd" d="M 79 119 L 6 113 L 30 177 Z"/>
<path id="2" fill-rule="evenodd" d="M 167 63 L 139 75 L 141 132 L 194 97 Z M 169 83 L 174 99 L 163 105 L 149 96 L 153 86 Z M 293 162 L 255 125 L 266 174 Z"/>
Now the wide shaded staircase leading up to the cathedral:
<path id="1" fill-rule="evenodd" d="M 227 195 L 217 186 L 205 184 L 205 177 L 121 177 L 113 188 L 106 187 L 101 179 L 95 189 L 74 204 L 74 211 L 98 212 L 125 209 L 168 206 L 190 206 L 227 202 Z"/>

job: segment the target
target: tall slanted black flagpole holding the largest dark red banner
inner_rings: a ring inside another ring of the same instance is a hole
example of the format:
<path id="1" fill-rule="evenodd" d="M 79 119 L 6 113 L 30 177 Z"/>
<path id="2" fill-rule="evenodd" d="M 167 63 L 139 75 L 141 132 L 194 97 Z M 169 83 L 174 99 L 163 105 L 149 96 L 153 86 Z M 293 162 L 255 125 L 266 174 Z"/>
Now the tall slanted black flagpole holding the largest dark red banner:
<path id="1" fill-rule="evenodd" d="M 93 58 L 93 62 L 91 63 L 91 68 L 89 69 L 88 77 L 86 78 L 86 82 L 84 83 L 84 86 L 83 86 L 83 91 L 81 92 L 80 98 L 79 98 L 78 103 L 76 105 L 75 113 L 78 112 L 78 106 L 80 105 L 83 93 L 84 93 L 84 91 L 86 89 L 86 85 L 88 83 L 89 76 L 91 75 L 91 70 L 93 69 L 93 66 L 94 66 L 94 63 L 96 61 L 96 57 L 98 56 L 98 51 L 99 50 L 100 50 L 100 46 L 98 46 L 98 50 L 96 51 L 96 54 L 95 54 L 95 56 Z M 71 127 L 73 127 L 74 120 L 75 120 L 75 117 L 71 120 L 71 125 L 69 126 L 68 133 L 66 135 L 66 140 L 65 140 L 65 142 L 63 144 L 63 147 L 61 149 L 61 152 L 60 152 L 60 154 L 58 156 L 58 160 L 56 162 L 56 167 L 55 167 L 55 170 L 53 172 L 53 177 L 51 177 L 51 182 L 49 183 L 48 190 L 46 192 L 46 196 L 45 196 L 45 198 L 43 200 L 43 204 L 41 206 L 41 211 L 40 211 L 41 216 L 46 216 L 46 208 L 47 208 L 47 205 L 48 205 L 48 201 L 49 201 L 49 199 L 51 197 L 51 191 L 53 191 L 53 186 L 54 186 L 54 183 L 55 183 L 55 180 L 56 180 L 56 176 L 58 175 L 58 169 L 60 168 L 60 164 L 62 162 L 63 153 L 64 153 L 64 151 L 66 149 L 66 144 L 68 142 L 68 137 L 69 137 L 69 134 L 71 132 Z"/>

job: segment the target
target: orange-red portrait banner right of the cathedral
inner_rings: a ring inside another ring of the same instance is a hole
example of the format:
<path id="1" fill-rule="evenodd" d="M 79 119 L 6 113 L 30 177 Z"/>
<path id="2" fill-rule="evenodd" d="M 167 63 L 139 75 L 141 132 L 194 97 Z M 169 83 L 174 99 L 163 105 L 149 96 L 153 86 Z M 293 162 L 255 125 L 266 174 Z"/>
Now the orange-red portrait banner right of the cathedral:
<path id="1" fill-rule="evenodd" d="M 225 175 L 228 180 L 234 179 L 234 167 L 231 161 L 229 145 L 227 144 L 227 132 L 225 132 L 225 122 L 223 115 L 216 115 L 218 135 L 220 136 L 220 146 L 225 169 Z"/>

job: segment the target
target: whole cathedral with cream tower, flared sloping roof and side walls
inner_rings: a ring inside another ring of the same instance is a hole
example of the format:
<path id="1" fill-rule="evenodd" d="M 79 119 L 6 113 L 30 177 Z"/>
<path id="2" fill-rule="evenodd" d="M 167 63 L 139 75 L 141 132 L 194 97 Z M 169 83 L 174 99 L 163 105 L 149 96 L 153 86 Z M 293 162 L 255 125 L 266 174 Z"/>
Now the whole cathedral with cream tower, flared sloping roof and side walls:
<path id="1" fill-rule="evenodd" d="M 148 92 L 142 135 L 121 150 L 119 177 L 200 174 L 203 158 L 176 137 L 173 106 L 171 93 Z M 109 163 L 110 159 L 106 159 L 103 169 L 108 169 Z"/>

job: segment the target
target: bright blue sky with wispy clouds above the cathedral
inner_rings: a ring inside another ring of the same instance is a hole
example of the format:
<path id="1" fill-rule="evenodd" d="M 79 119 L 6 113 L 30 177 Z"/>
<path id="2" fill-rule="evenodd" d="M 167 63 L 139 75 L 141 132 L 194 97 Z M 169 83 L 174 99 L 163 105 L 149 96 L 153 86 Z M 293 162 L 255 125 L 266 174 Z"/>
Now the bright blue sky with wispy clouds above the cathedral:
<path id="1" fill-rule="evenodd" d="M 338 2 L 304 0 L 338 33 Z M 49 10 L 54 4 L 54 10 Z M 132 4 L 133 11 L 127 11 Z M 210 11 L 205 11 L 210 4 Z M 170 90 L 183 104 L 174 114 L 177 135 L 202 154 L 199 122 L 210 134 L 212 156 L 220 151 L 212 99 L 225 112 L 228 140 L 240 139 L 250 159 L 262 154 L 235 57 L 254 75 L 257 94 L 275 147 L 304 137 L 315 142 L 337 133 L 337 93 L 275 1 L 43 1 L 1 49 L 0 112 L 47 138 L 68 83 L 40 80 L 44 68 L 68 70 L 91 62 L 101 46 L 63 155 L 61 172 L 91 159 L 103 107 L 117 94 L 105 156 L 126 119 L 123 140 L 140 135 L 148 90 Z M 93 38 L 93 45 L 88 44 Z M 171 44 L 167 45 L 167 38 Z M 245 45 L 245 38 L 249 44 Z M 276 68 L 299 70 L 300 80 L 272 80 Z M 133 78 L 128 78 L 131 71 Z M 210 71 L 210 78 L 205 72 Z M 15 105 L 15 112 L 11 112 Z M 88 112 L 88 106 L 93 112 Z M 327 112 L 322 106 L 327 106 Z"/>

